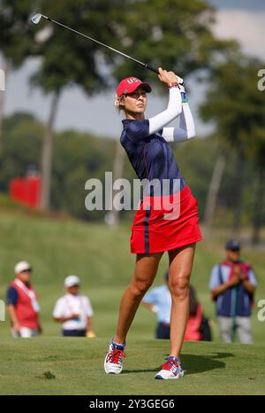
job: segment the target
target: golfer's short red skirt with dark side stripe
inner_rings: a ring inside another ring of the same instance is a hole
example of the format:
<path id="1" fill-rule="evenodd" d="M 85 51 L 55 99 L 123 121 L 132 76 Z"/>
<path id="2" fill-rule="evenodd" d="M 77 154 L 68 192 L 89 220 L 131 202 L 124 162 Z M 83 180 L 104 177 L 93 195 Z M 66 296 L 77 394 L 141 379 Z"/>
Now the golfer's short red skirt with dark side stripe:
<path id="1" fill-rule="evenodd" d="M 178 194 L 144 198 L 134 214 L 132 253 L 170 251 L 201 239 L 197 200 L 187 185 Z"/>

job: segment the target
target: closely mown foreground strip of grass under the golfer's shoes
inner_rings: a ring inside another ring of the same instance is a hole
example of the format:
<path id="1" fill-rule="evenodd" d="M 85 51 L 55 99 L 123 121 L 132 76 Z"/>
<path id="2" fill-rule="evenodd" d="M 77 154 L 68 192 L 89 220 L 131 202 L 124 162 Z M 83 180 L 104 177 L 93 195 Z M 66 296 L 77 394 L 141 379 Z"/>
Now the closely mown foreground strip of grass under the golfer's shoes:
<path id="1" fill-rule="evenodd" d="M 165 340 L 129 340 L 125 370 L 106 375 L 106 339 L 4 340 L 1 394 L 264 394 L 265 347 L 185 344 L 185 378 L 155 380 Z"/>

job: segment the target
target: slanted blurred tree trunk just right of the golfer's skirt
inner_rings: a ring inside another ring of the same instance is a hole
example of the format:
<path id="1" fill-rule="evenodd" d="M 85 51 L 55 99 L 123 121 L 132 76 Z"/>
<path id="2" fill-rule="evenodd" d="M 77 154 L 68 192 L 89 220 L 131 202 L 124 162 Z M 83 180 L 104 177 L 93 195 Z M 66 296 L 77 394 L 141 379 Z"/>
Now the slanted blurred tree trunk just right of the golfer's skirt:
<path id="1" fill-rule="evenodd" d="M 218 192 L 222 183 L 223 171 L 225 168 L 226 160 L 223 155 L 220 155 L 216 160 L 216 165 L 213 171 L 211 182 L 208 187 L 208 195 L 206 201 L 206 207 L 204 211 L 204 224 L 207 230 L 210 230 L 213 217 L 216 210 L 216 201 Z"/>

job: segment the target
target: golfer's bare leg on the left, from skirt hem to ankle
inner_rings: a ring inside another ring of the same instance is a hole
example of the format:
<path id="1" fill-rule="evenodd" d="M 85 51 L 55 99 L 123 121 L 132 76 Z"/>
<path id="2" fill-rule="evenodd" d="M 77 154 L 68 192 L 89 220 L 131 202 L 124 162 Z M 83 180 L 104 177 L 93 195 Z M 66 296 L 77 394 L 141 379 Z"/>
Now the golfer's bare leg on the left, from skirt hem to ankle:
<path id="1" fill-rule="evenodd" d="M 125 343 L 127 332 L 133 323 L 140 301 L 153 284 L 162 256 L 163 253 L 137 254 L 131 283 L 126 288 L 120 303 L 117 333 L 113 338 L 115 342 Z"/>

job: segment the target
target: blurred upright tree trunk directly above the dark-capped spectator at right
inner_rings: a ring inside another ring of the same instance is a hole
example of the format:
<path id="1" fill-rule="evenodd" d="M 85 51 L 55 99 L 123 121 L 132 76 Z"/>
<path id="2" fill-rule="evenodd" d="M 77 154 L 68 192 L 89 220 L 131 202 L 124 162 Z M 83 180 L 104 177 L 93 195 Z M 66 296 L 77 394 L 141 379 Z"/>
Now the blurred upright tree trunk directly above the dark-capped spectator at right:
<path id="1" fill-rule="evenodd" d="M 234 178 L 234 209 L 233 209 L 233 222 L 231 228 L 231 237 L 239 238 L 239 230 L 241 224 L 241 205 L 243 194 L 245 172 L 245 155 L 243 148 L 239 147 L 236 160 L 236 172 Z"/>

